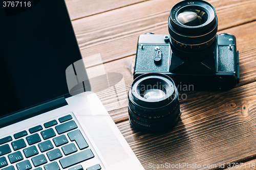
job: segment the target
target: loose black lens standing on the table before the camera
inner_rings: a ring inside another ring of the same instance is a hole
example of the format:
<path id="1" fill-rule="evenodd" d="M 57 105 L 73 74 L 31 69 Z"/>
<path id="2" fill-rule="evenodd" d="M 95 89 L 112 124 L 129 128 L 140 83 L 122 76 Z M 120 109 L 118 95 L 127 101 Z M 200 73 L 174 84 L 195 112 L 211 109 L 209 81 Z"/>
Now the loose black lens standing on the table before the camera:
<path id="1" fill-rule="evenodd" d="M 174 81 L 160 73 L 137 77 L 128 92 L 129 120 L 133 127 L 146 133 L 173 128 L 181 114 Z"/>

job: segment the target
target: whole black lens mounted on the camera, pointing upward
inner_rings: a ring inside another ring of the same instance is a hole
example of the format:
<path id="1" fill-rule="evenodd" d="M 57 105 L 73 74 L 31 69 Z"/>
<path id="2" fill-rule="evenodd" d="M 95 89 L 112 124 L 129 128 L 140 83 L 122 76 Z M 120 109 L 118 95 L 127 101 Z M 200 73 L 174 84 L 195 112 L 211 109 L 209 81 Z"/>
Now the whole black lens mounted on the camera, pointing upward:
<path id="1" fill-rule="evenodd" d="M 168 18 L 170 45 L 183 61 L 202 61 L 214 52 L 218 19 L 209 3 L 182 1 L 171 10 Z"/>

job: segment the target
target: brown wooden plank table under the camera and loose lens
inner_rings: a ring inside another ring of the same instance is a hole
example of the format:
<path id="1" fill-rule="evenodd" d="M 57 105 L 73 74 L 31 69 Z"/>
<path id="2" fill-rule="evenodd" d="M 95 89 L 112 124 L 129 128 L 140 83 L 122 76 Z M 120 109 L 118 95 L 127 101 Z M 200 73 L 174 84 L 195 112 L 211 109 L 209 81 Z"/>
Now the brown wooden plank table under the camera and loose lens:
<path id="1" fill-rule="evenodd" d="M 236 88 L 186 92 L 187 99 L 180 101 L 181 120 L 167 133 L 141 133 L 129 123 L 126 93 L 133 81 L 138 36 L 146 32 L 167 34 L 169 10 L 178 2 L 66 0 L 82 56 L 100 54 L 105 72 L 123 76 L 124 93 L 119 101 L 116 96 L 112 98 L 111 88 L 97 89 L 100 81 L 93 82 L 93 91 L 145 169 L 222 169 L 223 164 L 228 168 L 231 163 L 237 163 L 231 169 L 255 169 L 255 0 L 208 1 L 217 11 L 218 34 L 230 33 L 237 38 L 241 78 Z M 100 66 L 87 64 L 89 74 Z M 164 168 L 166 164 L 170 167 Z"/>

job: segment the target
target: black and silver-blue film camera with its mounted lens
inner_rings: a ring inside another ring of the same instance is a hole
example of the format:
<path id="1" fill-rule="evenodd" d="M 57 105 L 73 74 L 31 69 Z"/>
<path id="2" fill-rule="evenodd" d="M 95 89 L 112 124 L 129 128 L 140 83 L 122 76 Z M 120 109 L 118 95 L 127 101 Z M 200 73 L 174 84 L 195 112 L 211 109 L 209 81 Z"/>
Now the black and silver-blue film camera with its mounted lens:
<path id="1" fill-rule="evenodd" d="M 168 18 L 169 34 L 138 39 L 134 78 L 160 72 L 195 90 L 228 90 L 239 82 L 236 37 L 217 34 L 216 11 L 204 1 L 182 1 Z"/>

